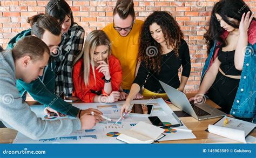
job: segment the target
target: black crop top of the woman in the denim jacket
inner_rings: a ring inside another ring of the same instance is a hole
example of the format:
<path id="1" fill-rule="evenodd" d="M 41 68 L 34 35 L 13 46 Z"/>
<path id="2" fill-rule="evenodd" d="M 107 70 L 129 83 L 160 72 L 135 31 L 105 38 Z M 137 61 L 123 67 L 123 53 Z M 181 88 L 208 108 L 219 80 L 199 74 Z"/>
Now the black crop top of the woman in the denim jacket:
<path id="1" fill-rule="evenodd" d="M 220 69 L 226 75 L 241 75 L 242 71 L 239 71 L 235 68 L 234 65 L 234 53 L 233 51 L 224 52 L 222 49 L 219 50 L 218 59 L 220 60 Z"/>

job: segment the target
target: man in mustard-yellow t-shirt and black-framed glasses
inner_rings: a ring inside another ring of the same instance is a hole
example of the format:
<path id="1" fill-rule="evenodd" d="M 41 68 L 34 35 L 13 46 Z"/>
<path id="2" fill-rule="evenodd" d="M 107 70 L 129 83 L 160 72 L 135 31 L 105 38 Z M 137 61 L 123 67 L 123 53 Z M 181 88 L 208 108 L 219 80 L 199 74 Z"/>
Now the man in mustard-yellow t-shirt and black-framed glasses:
<path id="1" fill-rule="evenodd" d="M 113 11 L 113 23 L 103 28 L 111 40 L 112 54 L 119 59 L 122 66 L 121 99 L 125 99 L 122 90 L 129 93 L 136 75 L 139 33 L 144 23 L 135 19 L 133 6 L 132 0 L 118 0 Z M 137 99 L 140 98 L 142 95 L 138 94 Z"/>

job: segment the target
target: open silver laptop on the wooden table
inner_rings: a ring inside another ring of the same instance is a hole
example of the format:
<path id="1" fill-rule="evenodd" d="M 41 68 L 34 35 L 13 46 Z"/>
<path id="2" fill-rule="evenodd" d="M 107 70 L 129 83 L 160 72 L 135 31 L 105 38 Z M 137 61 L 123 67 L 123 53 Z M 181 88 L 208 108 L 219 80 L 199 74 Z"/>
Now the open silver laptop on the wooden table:
<path id="1" fill-rule="evenodd" d="M 159 82 L 164 88 L 164 91 L 166 92 L 168 98 L 171 100 L 172 104 L 187 114 L 190 114 L 197 120 L 212 119 L 227 115 L 226 113 L 221 112 L 219 109 L 207 104 L 193 104 L 193 102 L 188 101 L 186 95 L 183 92 L 176 90 L 175 88 L 163 83 L 162 81 Z"/>

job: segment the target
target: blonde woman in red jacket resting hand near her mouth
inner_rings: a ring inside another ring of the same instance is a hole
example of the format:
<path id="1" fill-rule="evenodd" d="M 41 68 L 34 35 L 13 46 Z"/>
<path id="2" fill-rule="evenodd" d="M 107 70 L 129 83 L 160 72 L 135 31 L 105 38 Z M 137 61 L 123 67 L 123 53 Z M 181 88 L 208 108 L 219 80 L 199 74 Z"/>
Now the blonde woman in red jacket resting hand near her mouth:
<path id="1" fill-rule="evenodd" d="M 73 67 L 73 94 L 84 102 L 118 101 L 122 68 L 111 55 L 110 39 L 104 31 L 94 30 L 87 36 L 83 56 Z"/>

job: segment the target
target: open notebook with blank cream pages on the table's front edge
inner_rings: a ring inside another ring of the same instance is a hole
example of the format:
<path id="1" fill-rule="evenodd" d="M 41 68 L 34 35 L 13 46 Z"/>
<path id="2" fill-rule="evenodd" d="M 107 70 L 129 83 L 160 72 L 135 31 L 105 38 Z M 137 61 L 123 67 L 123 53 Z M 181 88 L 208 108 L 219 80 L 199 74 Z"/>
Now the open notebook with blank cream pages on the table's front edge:
<path id="1" fill-rule="evenodd" d="M 127 143 L 153 143 L 165 136 L 165 129 L 140 121 L 130 130 L 121 130 L 118 140 Z"/>

